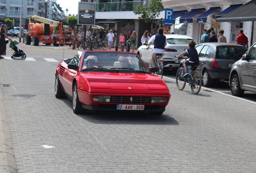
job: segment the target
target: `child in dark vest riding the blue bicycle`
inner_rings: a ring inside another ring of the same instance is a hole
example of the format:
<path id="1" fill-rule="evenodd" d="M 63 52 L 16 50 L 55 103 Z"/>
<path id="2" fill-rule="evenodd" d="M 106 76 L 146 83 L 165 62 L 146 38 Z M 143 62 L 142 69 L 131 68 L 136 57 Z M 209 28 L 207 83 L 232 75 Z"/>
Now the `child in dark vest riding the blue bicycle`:
<path id="1" fill-rule="evenodd" d="M 196 67 L 199 65 L 199 56 L 198 56 L 197 50 L 195 49 L 196 42 L 190 41 L 188 42 L 188 46 L 189 46 L 188 49 L 186 49 L 184 52 L 176 56 L 176 58 L 179 58 L 180 56 L 183 56 L 186 53 L 188 54 L 189 60 L 186 60 L 183 62 L 184 69 L 185 69 L 185 74 L 183 77 L 188 75 L 187 66 L 191 66 L 192 68 L 194 68 L 193 70 L 195 70 Z"/>

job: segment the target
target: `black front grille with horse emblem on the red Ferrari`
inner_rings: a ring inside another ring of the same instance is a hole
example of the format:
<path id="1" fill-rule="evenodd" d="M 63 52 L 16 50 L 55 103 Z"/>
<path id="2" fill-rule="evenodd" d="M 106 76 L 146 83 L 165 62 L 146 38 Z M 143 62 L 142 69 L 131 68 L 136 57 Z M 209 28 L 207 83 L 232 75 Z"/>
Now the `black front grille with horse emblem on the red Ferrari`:
<path id="1" fill-rule="evenodd" d="M 151 103 L 151 97 L 111 96 L 112 103 Z"/>

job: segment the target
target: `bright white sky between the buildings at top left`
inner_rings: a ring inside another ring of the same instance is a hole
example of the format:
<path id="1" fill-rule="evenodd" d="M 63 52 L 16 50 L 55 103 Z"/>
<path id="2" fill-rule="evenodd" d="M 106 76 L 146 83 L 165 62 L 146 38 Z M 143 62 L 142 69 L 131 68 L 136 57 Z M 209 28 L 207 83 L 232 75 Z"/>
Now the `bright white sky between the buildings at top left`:
<path id="1" fill-rule="evenodd" d="M 81 2 L 81 0 L 57 0 L 57 4 L 60 4 L 60 7 L 65 12 L 65 15 L 67 8 L 68 14 L 76 15 L 78 12 L 78 2 Z"/>

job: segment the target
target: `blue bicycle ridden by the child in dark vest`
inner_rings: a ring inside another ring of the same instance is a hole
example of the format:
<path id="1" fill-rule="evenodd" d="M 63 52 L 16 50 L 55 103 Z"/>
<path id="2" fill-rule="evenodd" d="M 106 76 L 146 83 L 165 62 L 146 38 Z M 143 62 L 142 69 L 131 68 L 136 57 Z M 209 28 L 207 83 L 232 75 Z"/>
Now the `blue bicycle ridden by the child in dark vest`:
<path id="1" fill-rule="evenodd" d="M 180 57 L 181 59 L 187 60 L 188 57 Z M 184 76 L 185 69 L 182 63 L 182 67 L 177 70 L 176 73 L 176 85 L 179 90 L 183 90 L 188 83 L 191 87 L 191 91 L 194 94 L 198 94 L 200 92 L 202 86 L 202 77 L 200 73 L 196 70 L 196 66 L 189 67 L 188 66 L 188 75 Z"/>

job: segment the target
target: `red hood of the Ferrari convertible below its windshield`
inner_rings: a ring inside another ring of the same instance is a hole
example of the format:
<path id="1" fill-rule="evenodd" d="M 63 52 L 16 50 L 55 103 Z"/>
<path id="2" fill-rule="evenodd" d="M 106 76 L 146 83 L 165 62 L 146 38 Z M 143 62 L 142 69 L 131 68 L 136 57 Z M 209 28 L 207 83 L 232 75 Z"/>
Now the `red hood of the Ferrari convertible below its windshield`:
<path id="1" fill-rule="evenodd" d="M 81 76 L 79 84 L 89 84 L 91 93 L 169 94 L 165 82 L 152 74 L 87 72 Z"/>

